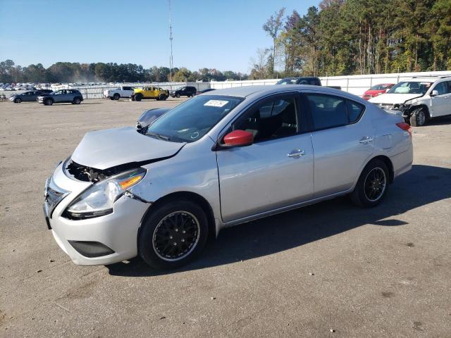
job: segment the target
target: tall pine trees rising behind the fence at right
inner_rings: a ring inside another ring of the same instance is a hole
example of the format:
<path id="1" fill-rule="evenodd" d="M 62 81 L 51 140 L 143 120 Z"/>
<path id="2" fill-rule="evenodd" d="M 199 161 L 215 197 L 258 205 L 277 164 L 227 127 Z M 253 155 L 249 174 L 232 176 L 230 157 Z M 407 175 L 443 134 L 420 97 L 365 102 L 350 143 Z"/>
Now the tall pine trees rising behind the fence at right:
<path id="1" fill-rule="evenodd" d="M 284 15 L 264 23 L 273 45 L 251 79 L 451 70 L 450 0 L 323 0 Z"/>

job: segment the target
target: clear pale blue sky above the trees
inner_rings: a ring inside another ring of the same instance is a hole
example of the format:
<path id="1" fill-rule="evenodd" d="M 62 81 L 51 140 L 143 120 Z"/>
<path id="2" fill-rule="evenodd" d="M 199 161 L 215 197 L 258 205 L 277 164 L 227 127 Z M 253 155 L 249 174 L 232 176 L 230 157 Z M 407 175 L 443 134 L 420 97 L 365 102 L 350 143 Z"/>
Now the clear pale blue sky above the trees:
<path id="1" fill-rule="evenodd" d="M 319 0 L 172 0 L 174 66 L 248 73 L 261 26 L 281 7 L 301 15 Z M 1 0 L 0 61 L 168 66 L 168 0 Z"/>

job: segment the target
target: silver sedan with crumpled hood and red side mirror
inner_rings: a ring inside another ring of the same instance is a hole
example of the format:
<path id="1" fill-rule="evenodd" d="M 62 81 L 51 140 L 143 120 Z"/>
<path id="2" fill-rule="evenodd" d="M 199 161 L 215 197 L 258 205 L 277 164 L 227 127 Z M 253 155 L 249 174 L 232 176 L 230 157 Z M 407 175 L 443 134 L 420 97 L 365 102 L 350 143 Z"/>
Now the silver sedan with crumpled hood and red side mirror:
<path id="1" fill-rule="evenodd" d="M 77 264 L 139 255 L 166 270 L 224 227 L 347 194 L 377 206 L 412 157 L 410 126 L 352 94 L 221 89 L 172 108 L 145 133 L 88 132 L 47 180 L 44 214 Z"/>

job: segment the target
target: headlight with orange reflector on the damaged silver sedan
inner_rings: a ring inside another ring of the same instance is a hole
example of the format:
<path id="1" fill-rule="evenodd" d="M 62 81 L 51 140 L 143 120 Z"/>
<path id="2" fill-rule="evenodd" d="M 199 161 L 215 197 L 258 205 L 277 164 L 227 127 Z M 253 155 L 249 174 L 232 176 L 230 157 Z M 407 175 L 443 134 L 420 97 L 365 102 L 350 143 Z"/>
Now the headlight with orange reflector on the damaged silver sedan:
<path id="1" fill-rule="evenodd" d="M 138 168 L 100 181 L 82 192 L 66 209 L 69 218 L 92 218 L 113 212 L 114 202 L 139 183 L 147 170 Z"/>

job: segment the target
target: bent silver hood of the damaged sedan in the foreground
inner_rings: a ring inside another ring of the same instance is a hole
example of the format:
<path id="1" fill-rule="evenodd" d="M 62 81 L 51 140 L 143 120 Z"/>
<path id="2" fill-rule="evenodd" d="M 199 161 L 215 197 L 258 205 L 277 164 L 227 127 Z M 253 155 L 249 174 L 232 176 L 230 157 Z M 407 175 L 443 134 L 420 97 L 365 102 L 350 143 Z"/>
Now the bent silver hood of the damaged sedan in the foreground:
<path id="1" fill-rule="evenodd" d="M 185 143 L 154 139 L 134 127 L 88 132 L 72 154 L 75 163 L 105 170 L 125 163 L 152 161 L 176 154 Z"/>

